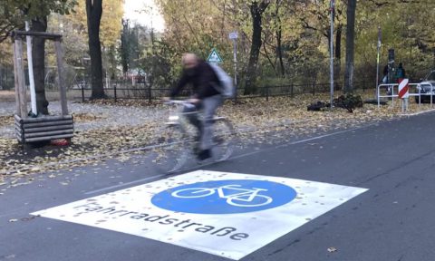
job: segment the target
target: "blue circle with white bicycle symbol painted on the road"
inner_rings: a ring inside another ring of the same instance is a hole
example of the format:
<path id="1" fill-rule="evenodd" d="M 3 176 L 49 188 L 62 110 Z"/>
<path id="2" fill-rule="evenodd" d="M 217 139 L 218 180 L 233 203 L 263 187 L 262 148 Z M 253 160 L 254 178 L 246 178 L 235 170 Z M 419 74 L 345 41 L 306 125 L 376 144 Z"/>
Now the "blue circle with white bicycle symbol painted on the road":
<path id="1" fill-rule="evenodd" d="M 151 203 L 176 212 L 236 214 L 276 208 L 295 198 L 295 189 L 281 183 L 227 179 L 166 189 L 154 195 Z"/>

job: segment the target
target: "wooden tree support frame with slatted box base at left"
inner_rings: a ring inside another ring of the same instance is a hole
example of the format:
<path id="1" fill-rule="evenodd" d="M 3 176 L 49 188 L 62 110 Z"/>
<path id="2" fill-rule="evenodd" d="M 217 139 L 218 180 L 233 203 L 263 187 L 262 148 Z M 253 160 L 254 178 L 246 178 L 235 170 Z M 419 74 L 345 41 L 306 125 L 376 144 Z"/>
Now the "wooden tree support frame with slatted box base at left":
<path id="1" fill-rule="evenodd" d="M 23 55 L 23 39 L 26 36 L 42 37 L 44 39 L 54 41 L 54 48 L 57 58 L 57 70 L 59 75 L 59 91 L 62 105 L 61 115 L 47 115 L 37 118 L 28 117 Z M 14 80 L 16 101 L 14 127 L 16 138 L 20 140 L 21 143 L 73 138 L 73 116 L 68 114 L 66 101 L 62 35 L 41 32 L 14 31 L 12 37 L 14 40 Z"/>

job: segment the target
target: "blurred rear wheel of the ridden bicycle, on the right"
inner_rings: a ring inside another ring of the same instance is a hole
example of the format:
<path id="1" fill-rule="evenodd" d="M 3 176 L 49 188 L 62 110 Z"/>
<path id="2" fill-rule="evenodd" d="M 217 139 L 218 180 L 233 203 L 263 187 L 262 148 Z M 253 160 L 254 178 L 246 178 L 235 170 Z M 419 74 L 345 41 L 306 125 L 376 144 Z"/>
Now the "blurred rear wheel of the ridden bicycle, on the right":
<path id="1" fill-rule="evenodd" d="M 216 161 L 227 160 L 234 150 L 236 133 L 230 121 L 218 118 L 213 124 L 213 157 Z"/>

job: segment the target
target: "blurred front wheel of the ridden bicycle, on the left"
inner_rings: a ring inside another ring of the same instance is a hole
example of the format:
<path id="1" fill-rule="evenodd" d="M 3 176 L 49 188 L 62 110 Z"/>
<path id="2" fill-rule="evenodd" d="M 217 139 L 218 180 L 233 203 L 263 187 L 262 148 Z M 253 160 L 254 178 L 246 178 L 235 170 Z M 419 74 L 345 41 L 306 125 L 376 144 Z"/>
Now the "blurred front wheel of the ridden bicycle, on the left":
<path id="1" fill-rule="evenodd" d="M 179 125 L 168 125 L 157 133 L 153 149 L 153 162 L 160 172 L 175 172 L 186 163 L 189 157 L 186 131 Z"/>

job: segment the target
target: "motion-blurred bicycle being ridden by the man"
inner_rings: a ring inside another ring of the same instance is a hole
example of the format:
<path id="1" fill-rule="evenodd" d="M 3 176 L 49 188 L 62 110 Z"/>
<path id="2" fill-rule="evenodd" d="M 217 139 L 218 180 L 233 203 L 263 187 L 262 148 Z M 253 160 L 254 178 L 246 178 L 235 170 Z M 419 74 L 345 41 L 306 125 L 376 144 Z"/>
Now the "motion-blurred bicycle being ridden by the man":
<path id="1" fill-rule="evenodd" d="M 168 121 L 157 133 L 154 153 L 155 162 L 161 172 L 172 173 L 181 169 L 189 160 L 189 155 L 198 151 L 198 139 L 193 134 L 196 130 L 187 119 L 189 113 L 183 112 L 183 106 L 193 106 L 187 101 L 171 100 L 166 104 L 175 106 L 175 113 L 169 114 Z M 216 162 L 227 160 L 232 152 L 235 139 L 233 125 L 225 117 L 213 119 L 212 155 Z M 193 152 L 193 153 L 192 153 Z"/>

